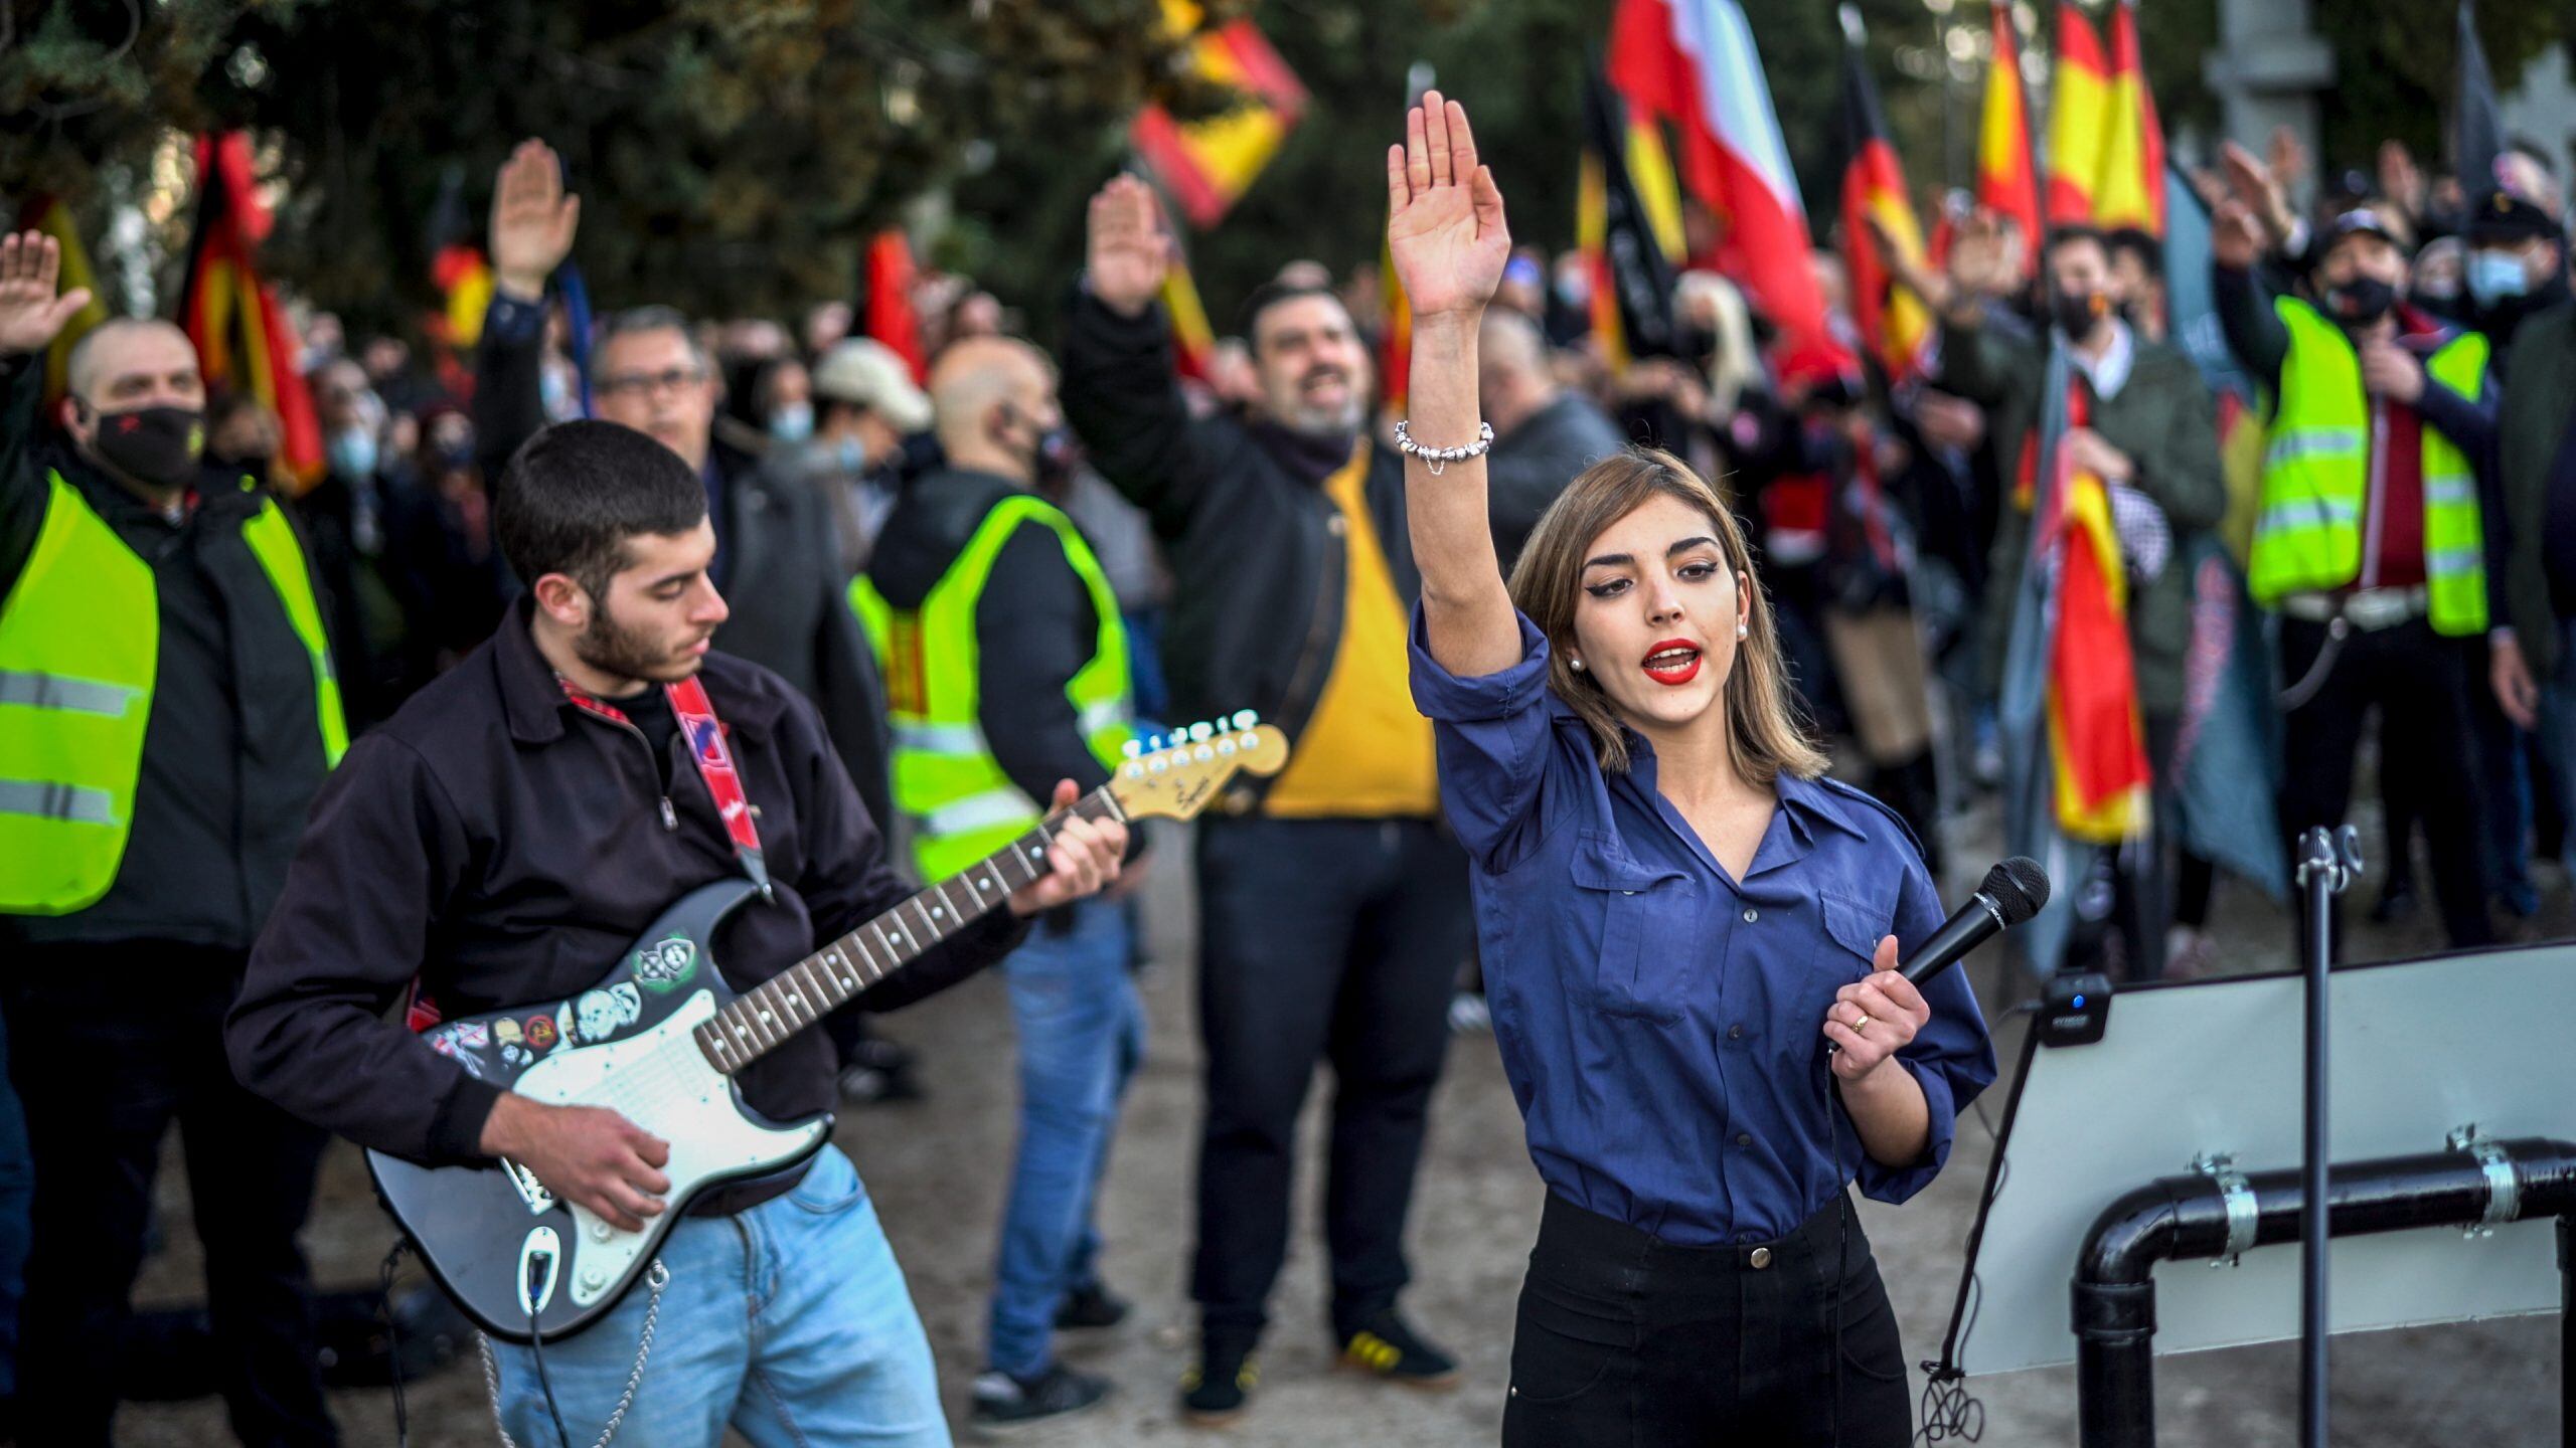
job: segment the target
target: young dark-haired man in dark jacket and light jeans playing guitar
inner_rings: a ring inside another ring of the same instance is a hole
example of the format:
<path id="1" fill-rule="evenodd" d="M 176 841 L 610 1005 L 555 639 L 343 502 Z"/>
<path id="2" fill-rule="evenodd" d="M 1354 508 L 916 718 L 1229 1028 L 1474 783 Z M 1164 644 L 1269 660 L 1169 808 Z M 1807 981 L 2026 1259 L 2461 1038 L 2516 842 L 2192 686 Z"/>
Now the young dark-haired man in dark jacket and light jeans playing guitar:
<path id="1" fill-rule="evenodd" d="M 531 438 L 500 482 L 495 533 L 528 595 L 464 665 L 358 742 L 314 801 L 286 894 L 250 961 L 227 1046 L 242 1082 L 296 1116 L 417 1162 L 507 1157 L 559 1198 L 662 1242 L 670 1283 L 639 1373 L 649 1293 L 546 1348 L 551 1396 L 587 1440 L 639 1378 L 626 1443 L 943 1445 L 930 1345 L 876 1208 L 835 1147 L 804 1167 L 672 1203 L 670 1149 L 616 1110 L 541 1105 L 471 1080 L 412 1025 L 572 997 L 665 904 L 737 868 L 737 848 L 665 688 L 706 685 L 750 799 L 775 902 L 732 917 L 716 958 L 752 987 L 912 894 L 886 868 L 814 706 L 708 652 L 706 490 L 670 448 L 613 423 Z M 1072 781 L 1056 804 L 1072 804 Z M 1025 917 L 1097 891 L 1126 830 L 1069 819 L 1051 873 L 866 997 L 922 1000 L 999 961 Z M 832 1043 L 809 1031 L 739 1077 L 773 1118 L 832 1105 Z M 817 1270 L 829 1265 L 829 1270 Z M 554 1443 L 538 1363 L 492 1345 L 495 1412 Z"/>

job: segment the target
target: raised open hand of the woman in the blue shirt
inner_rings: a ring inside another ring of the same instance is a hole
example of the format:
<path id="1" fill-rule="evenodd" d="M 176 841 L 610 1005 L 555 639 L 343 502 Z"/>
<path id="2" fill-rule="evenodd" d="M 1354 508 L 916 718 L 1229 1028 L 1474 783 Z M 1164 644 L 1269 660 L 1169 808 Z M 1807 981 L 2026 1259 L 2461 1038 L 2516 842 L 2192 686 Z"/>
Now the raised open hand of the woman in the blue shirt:
<path id="1" fill-rule="evenodd" d="M 1476 160 L 1466 106 L 1437 90 L 1404 113 L 1404 144 L 1386 147 L 1386 250 L 1414 317 L 1484 312 L 1512 255 L 1502 191 Z"/>

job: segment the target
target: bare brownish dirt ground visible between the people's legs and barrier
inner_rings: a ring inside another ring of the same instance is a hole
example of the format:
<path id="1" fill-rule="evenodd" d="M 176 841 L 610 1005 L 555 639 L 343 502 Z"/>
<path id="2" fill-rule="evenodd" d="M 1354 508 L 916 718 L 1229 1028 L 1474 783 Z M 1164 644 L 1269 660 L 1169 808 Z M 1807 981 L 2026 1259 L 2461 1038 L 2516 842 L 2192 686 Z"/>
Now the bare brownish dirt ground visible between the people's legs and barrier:
<path id="1" fill-rule="evenodd" d="M 2375 830 L 2365 840 L 2375 848 Z M 1432 1144 L 1412 1216 L 1414 1288 L 1406 1296 L 1425 1332 L 1458 1350 L 1466 1384 L 1448 1394 L 1414 1394 L 1332 1371 L 1324 1340 L 1324 1257 L 1316 1237 L 1319 1105 L 1309 1103 L 1303 1134 L 1301 1216 L 1288 1273 L 1273 1304 L 1262 1350 L 1262 1389 L 1252 1415 L 1221 1435 L 1200 1435 L 1175 1415 L 1175 1376 L 1188 1360 L 1190 1309 L 1185 1255 L 1190 1244 L 1190 1162 L 1198 1126 L 1198 1043 L 1193 1038 L 1190 902 L 1177 840 L 1162 840 L 1162 868 L 1149 891 L 1151 953 L 1144 976 L 1154 1020 L 1151 1054 L 1128 1098 L 1103 1224 L 1110 1283 L 1139 1311 L 1110 1335 L 1066 1340 L 1079 1368 L 1108 1373 L 1118 1394 L 1097 1412 L 1020 1440 L 1061 1448 L 1188 1443 L 1211 1438 L 1239 1448 L 1288 1445 L 1476 1445 L 1494 1443 L 1510 1366 L 1512 1304 L 1538 1226 L 1540 1185 L 1522 1152 L 1520 1118 L 1489 1036 L 1453 1043 L 1448 1077 L 1432 1110 Z M 1953 858 L 1968 861 L 1953 897 L 1994 858 L 1991 814 L 1955 822 Z M 2543 915 L 2550 935 L 2568 935 L 2566 879 L 2540 866 Z M 2437 948 L 2429 920 L 2372 928 L 2365 904 L 2380 866 L 2354 886 L 2347 920 L 2354 958 L 2411 956 Z M 2429 912 L 2427 912 L 2429 915 Z M 2223 884 L 2215 917 L 2226 943 L 2223 969 L 2290 964 L 2287 917 L 2254 891 Z M 2530 933 L 2530 930 L 2527 930 Z M 1976 961 L 1989 1015 L 2004 1000 L 1994 961 Z M 994 1221 L 1002 1208 L 1012 1141 L 1015 1077 L 1010 1015 L 997 979 L 969 982 L 889 1020 L 889 1036 L 922 1059 L 927 1100 L 845 1113 L 840 1144 L 876 1193 L 886 1232 L 904 1262 L 914 1301 L 940 1360 L 951 1422 L 966 1433 L 966 1384 L 981 1366 L 981 1324 L 992 1283 Z M 1999 1038 L 2009 1064 L 2017 1038 Z M 2009 1082 L 1989 1095 L 2002 1108 Z M 1960 1244 L 1989 1159 L 1989 1136 L 1960 1123 L 1950 1170 L 1901 1208 L 1865 1206 L 1906 1335 L 1906 1355 L 1940 1348 L 1958 1286 Z M 142 1283 L 142 1301 L 198 1296 L 198 1255 L 188 1234 L 178 1170 L 160 1188 L 170 1250 Z M 322 1201 L 309 1229 L 317 1278 L 361 1286 L 392 1229 L 376 1211 L 358 1154 L 335 1147 L 325 1165 Z M 417 1281 L 407 1273 L 404 1278 Z M 2550 1319 L 2488 1322 L 2414 1332 L 2342 1337 L 2334 1345 L 2334 1443 L 2342 1448 L 2537 1448 L 2558 1443 L 2558 1324 Z M 2156 1417 L 2169 1445 L 2257 1445 L 2295 1438 L 2298 1363 L 2290 1345 L 2164 1358 L 2156 1366 Z M 1994 1448 L 2071 1445 L 2076 1399 L 2071 1371 L 2035 1371 L 1971 1384 L 1984 1404 L 1981 1443 Z M 412 1435 L 420 1448 L 495 1443 L 482 1373 L 471 1358 L 412 1384 Z M 384 1389 L 343 1391 L 335 1409 L 348 1443 L 392 1443 L 392 1399 Z M 142 1448 L 229 1443 L 222 1404 L 131 1404 L 121 1440 Z M 574 1425 L 582 1443 L 595 1425 Z"/>

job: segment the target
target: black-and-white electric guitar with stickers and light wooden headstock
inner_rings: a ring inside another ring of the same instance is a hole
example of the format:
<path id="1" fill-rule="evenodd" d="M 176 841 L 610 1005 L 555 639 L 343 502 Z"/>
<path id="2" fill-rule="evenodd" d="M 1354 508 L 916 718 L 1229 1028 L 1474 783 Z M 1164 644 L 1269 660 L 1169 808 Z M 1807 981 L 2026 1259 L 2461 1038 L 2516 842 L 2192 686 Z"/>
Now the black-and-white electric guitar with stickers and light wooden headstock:
<path id="1" fill-rule="evenodd" d="M 1154 745 L 1131 745 L 1110 783 L 1069 814 L 1188 819 L 1236 770 L 1273 776 L 1288 763 L 1288 737 L 1252 714 L 1175 729 Z M 693 1198 L 793 1167 L 832 1139 L 829 1113 L 770 1121 L 744 1105 L 734 1072 L 1046 876 L 1051 843 L 1041 822 L 739 995 L 708 943 L 757 886 L 729 876 L 680 897 L 572 1000 L 466 1015 L 425 1033 L 433 1051 L 479 1080 L 551 1105 L 605 1105 L 670 1141 L 667 1208 L 644 1232 L 559 1201 L 510 1159 L 422 1167 L 368 1152 L 376 1196 L 484 1332 L 510 1342 L 580 1332 L 644 1275 Z"/>

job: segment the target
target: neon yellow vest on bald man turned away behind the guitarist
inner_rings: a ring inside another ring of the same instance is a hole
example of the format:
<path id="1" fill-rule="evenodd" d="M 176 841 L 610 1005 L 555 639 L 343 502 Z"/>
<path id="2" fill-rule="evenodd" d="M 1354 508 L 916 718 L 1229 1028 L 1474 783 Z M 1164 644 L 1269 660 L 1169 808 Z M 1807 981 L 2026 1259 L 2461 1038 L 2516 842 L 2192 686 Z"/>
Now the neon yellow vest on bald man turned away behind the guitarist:
<path id="1" fill-rule="evenodd" d="M 868 629 L 886 678 L 889 732 L 894 737 L 894 809 L 912 824 L 912 858 L 922 879 L 948 879 L 1038 824 L 1041 809 L 1002 773 L 984 737 L 979 698 L 976 603 L 1002 544 L 1020 523 L 1041 523 L 1064 546 L 1092 600 L 1097 636 L 1092 657 L 1066 683 L 1064 696 L 1084 745 L 1113 768 L 1133 737 L 1128 727 L 1128 652 L 1118 595 L 1072 518 L 1033 495 L 997 502 L 958 549 L 948 572 L 899 611 L 876 582 L 850 582 L 850 608 Z"/>

